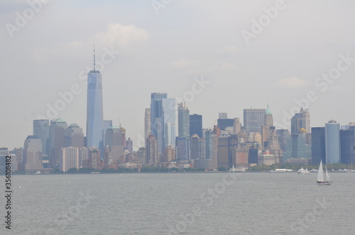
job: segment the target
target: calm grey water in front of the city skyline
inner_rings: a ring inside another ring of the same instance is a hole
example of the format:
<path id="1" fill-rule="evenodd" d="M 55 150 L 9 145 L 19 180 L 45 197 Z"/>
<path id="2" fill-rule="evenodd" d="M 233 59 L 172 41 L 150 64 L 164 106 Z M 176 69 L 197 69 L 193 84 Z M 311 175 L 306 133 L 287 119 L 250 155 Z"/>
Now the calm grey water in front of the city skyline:
<path id="1" fill-rule="evenodd" d="M 333 173 L 331 186 L 316 178 L 13 175 L 11 234 L 355 234 L 355 173 Z"/>

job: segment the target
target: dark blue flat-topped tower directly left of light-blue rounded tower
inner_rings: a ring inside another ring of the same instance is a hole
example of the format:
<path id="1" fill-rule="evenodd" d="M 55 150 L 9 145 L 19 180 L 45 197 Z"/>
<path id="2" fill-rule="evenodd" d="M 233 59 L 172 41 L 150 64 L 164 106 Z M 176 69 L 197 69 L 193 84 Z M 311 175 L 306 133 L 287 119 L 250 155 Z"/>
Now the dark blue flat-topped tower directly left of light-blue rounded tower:
<path id="1" fill-rule="evenodd" d="M 312 127 L 312 164 L 320 164 L 325 161 L 325 128 Z"/>

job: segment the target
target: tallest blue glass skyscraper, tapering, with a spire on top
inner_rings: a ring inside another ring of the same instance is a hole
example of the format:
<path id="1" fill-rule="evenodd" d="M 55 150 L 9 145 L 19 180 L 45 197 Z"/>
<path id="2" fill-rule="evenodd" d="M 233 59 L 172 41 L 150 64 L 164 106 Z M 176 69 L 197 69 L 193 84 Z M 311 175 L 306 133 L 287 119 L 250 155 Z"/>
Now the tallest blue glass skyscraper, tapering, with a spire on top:
<path id="1" fill-rule="evenodd" d="M 95 68 L 87 74 L 87 148 L 97 147 L 104 153 L 104 109 L 102 76 Z"/>

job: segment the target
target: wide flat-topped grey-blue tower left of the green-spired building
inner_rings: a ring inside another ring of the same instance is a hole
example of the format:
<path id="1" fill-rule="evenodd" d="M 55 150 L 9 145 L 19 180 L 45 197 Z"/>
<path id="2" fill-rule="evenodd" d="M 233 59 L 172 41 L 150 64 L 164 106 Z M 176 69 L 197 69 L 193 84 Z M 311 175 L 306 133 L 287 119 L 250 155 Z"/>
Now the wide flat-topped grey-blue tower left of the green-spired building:
<path id="1" fill-rule="evenodd" d="M 244 130 L 246 133 L 261 132 L 265 123 L 265 109 L 244 109 Z"/>

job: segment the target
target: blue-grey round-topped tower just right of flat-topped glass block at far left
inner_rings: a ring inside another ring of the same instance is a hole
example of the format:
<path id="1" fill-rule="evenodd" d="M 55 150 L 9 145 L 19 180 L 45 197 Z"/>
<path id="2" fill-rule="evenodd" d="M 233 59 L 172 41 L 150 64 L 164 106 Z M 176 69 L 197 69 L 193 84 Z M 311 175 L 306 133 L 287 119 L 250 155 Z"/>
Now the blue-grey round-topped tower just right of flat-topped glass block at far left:
<path id="1" fill-rule="evenodd" d="M 50 120 L 50 168 L 59 167 L 60 151 L 65 148 L 65 130 L 67 123 L 63 119 Z"/>

